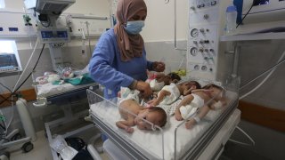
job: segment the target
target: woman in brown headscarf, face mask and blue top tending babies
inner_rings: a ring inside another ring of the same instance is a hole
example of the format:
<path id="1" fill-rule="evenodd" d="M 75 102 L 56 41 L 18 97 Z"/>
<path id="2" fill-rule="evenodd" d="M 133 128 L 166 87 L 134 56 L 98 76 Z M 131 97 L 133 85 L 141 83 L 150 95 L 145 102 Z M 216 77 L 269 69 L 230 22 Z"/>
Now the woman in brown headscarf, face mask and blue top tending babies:
<path id="1" fill-rule="evenodd" d="M 147 7 L 143 0 L 118 0 L 118 23 L 102 34 L 89 62 L 89 72 L 95 82 L 105 86 L 104 97 L 117 97 L 120 87 L 139 90 L 142 97 L 151 95 L 145 83 L 147 69 L 162 72 L 163 62 L 146 60 L 140 32 L 144 26 Z"/>

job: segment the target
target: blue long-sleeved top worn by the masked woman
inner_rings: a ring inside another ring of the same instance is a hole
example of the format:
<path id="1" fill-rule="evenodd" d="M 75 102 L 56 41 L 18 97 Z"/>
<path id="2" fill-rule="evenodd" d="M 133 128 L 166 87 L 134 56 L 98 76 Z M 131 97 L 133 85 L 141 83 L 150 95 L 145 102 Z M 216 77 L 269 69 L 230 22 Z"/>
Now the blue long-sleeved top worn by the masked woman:
<path id="1" fill-rule="evenodd" d="M 151 70 L 152 62 L 146 60 L 143 48 L 142 57 L 122 61 L 118 51 L 117 36 L 114 29 L 104 32 L 95 46 L 89 62 L 90 76 L 95 82 L 105 86 L 104 97 L 117 97 L 120 87 L 127 87 L 134 79 L 145 81 L 147 69 Z"/>

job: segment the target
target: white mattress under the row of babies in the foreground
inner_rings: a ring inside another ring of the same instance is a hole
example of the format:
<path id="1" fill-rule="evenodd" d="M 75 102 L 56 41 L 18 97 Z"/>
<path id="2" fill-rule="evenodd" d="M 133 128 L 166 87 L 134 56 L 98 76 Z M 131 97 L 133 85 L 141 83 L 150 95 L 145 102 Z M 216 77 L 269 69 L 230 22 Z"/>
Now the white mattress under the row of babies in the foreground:
<path id="1" fill-rule="evenodd" d="M 230 97 L 232 100 L 236 100 L 235 93 Z M 231 102 L 229 102 L 228 105 L 231 105 Z M 126 133 L 116 126 L 116 122 L 121 119 L 116 105 L 102 101 L 94 103 L 90 108 L 90 112 L 93 116 L 99 117 L 104 124 L 107 124 L 115 132 L 118 132 L 119 135 L 125 140 L 128 140 L 131 144 L 134 144 L 134 146 L 139 146 L 139 148 L 142 149 L 142 153 L 147 152 L 147 155 L 150 154 L 153 156 L 151 159 L 163 158 L 161 132 L 142 131 L 134 126 L 134 132 L 132 134 Z M 181 125 L 177 132 L 176 155 L 183 155 L 186 151 L 191 149 L 193 144 L 199 140 L 200 135 L 206 132 L 208 127 L 222 112 L 222 109 L 211 110 L 208 115 L 191 130 L 187 130 L 184 124 Z M 165 159 L 175 158 L 175 128 L 181 123 L 181 121 L 176 121 L 174 116 L 170 116 L 168 117 L 167 125 L 162 128 L 164 134 Z"/>

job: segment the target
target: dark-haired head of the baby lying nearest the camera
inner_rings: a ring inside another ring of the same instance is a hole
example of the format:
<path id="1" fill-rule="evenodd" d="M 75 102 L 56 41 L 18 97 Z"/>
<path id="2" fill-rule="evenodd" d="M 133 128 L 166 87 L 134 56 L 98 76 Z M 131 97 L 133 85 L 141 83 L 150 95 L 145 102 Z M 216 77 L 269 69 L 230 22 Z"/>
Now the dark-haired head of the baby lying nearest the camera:
<path id="1" fill-rule="evenodd" d="M 139 112 L 134 118 L 134 124 L 136 124 L 140 130 L 152 130 L 151 124 L 146 123 L 142 119 L 159 127 L 163 127 L 167 124 L 167 113 L 163 108 L 159 107 L 145 108 Z"/>

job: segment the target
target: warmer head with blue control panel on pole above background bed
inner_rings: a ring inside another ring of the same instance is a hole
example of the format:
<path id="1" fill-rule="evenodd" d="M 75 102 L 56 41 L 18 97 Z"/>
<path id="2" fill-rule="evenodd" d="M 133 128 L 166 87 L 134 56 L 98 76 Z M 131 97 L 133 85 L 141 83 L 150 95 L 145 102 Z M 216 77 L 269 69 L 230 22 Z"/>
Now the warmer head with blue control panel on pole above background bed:
<path id="1" fill-rule="evenodd" d="M 62 66 L 61 46 L 70 41 L 69 28 L 62 28 L 57 21 L 61 12 L 66 10 L 75 0 L 25 0 L 26 8 L 37 12 L 41 26 L 37 29 L 37 37 L 42 44 L 49 44 L 53 70 Z"/>

